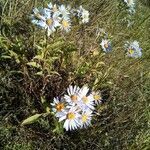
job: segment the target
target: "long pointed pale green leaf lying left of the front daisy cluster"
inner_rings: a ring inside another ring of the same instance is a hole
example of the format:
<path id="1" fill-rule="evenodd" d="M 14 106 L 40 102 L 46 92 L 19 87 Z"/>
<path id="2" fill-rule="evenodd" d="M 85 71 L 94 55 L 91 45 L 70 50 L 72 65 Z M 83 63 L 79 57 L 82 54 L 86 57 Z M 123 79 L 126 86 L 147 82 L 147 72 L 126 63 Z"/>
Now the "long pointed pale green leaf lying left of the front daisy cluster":
<path id="1" fill-rule="evenodd" d="M 25 119 L 21 125 L 29 125 L 32 124 L 34 122 L 36 122 L 40 117 L 42 116 L 42 114 L 35 114 L 27 119 Z"/>

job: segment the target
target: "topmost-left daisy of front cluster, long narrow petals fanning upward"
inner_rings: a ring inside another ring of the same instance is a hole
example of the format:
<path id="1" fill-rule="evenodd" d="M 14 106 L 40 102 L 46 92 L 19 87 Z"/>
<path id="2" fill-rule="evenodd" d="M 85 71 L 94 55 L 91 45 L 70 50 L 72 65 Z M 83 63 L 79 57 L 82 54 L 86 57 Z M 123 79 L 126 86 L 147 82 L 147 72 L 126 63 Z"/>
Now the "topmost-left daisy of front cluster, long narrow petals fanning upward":
<path id="1" fill-rule="evenodd" d="M 78 86 L 70 85 L 67 88 L 67 95 L 64 96 L 64 99 L 66 100 L 66 102 L 68 102 L 71 105 L 77 104 L 79 101 L 79 90 L 80 88 Z"/>

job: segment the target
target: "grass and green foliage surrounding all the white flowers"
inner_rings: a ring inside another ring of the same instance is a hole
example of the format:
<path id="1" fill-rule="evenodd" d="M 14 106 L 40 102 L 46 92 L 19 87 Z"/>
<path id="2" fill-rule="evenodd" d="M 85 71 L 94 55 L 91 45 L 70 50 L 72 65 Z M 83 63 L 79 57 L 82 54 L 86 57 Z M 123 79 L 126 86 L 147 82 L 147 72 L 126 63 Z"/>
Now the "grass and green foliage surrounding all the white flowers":
<path id="1" fill-rule="evenodd" d="M 0 149 L 150 149 L 150 1 L 137 0 L 134 15 L 123 0 L 52 1 L 83 5 L 90 22 L 50 38 L 29 18 L 33 7 L 46 2 L 0 1 Z M 128 20 L 134 21 L 131 27 Z M 112 40 L 109 54 L 99 45 L 100 28 Z M 125 57 L 127 40 L 139 41 L 142 58 Z M 102 91 L 100 115 L 91 127 L 65 132 L 51 115 L 21 126 L 27 117 L 48 111 L 53 97 L 70 84 Z"/>

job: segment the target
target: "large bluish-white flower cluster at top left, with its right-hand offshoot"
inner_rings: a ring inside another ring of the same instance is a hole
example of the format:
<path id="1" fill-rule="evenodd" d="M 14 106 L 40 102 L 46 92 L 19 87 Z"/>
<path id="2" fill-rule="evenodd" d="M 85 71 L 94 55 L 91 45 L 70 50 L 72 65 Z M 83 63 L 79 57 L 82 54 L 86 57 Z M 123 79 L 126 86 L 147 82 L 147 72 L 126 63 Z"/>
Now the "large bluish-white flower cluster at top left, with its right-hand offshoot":
<path id="1" fill-rule="evenodd" d="M 33 9 L 32 23 L 47 30 L 48 36 L 57 29 L 69 32 L 71 30 L 71 18 L 78 17 L 80 23 L 89 22 L 89 12 L 82 6 L 79 9 L 71 9 L 70 6 L 49 3 L 47 7 L 38 10 Z"/>

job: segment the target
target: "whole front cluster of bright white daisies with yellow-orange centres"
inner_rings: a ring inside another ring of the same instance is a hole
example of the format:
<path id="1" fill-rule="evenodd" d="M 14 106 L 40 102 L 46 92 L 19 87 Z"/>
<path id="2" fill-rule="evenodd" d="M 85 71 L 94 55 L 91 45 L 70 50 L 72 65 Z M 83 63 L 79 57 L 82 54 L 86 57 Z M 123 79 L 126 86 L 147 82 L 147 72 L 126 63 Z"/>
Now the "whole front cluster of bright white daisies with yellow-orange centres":
<path id="1" fill-rule="evenodd" d="M 67 93 L 59 99 L 54 98 L 52 110 L 63 127 L 68 130 L 86 128 L 91 124 L 95 106 L 102 102 L 100 92 L 90 92 L 87 86 L 69 86 Z"/>

